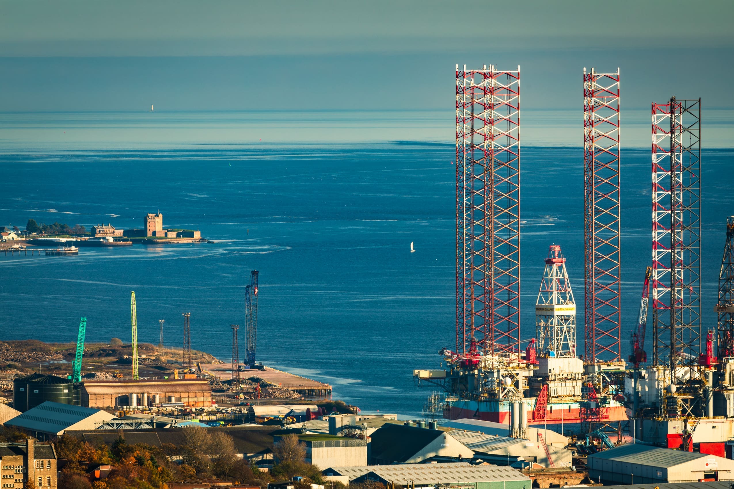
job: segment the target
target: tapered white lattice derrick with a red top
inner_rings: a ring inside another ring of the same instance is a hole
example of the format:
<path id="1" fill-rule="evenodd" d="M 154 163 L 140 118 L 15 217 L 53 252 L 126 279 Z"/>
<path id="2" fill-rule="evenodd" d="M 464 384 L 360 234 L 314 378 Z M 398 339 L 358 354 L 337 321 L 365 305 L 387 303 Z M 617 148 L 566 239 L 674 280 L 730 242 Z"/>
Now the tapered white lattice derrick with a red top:
<path id="1" fill-rule="evenodd" d="M 576 356 L 576 305 L 561 247 L 551 245 L 535 302 L 535 327 L 539 351 L 555 356 Z"/>

